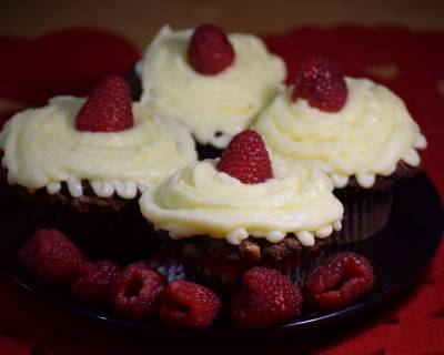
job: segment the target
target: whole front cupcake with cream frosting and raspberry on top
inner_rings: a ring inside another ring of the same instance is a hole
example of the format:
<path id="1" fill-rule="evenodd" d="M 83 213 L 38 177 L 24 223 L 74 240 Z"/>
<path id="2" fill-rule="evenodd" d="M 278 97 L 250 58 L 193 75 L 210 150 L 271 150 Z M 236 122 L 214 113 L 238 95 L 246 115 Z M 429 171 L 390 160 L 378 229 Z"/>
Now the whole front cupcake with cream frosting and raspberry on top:
<path id="1" fill-rule="evenodd" d="M 341 229 L 332 190 L 310 164 L 271 162 L 260 135 L 246 130 L 220 160 L 194 162 L 145 191 L 140 207 L 167 232 L 186 277 L 230 296 L 254 265 L 304 282 Z"/>

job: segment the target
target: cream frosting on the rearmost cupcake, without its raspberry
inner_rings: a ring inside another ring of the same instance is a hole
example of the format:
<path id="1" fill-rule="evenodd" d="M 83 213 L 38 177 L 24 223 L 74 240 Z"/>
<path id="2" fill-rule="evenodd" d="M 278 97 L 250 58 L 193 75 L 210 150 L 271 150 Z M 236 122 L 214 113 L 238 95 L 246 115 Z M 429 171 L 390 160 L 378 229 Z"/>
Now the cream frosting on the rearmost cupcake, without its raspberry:
<path id="1" fill-rule="evenodd" d="M 235 33 L 229 36 L 234 62 L 216 75 L 202 75 L 188 61 L 192 33 L 161 29 L 141 64 L 141 103 L 181 121 L 199 143 L 224 148 L 275 97 L 285 64 L 259 38 Z"/>

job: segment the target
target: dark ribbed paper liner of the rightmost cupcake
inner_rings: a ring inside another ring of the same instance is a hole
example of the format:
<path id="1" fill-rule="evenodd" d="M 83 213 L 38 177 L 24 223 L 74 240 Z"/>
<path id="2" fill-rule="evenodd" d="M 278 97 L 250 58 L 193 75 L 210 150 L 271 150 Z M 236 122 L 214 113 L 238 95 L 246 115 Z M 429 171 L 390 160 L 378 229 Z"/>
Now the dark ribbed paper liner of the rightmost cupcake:
<path id="1" fill-rule="evenodd" d="M 353 191 L 334 191 L 344 205 L 342 230 L 334 232 L 332 244 L 352 244 L 364 241 L 381 231 L 389 221 L 393 187 L 384 190 L 356 189 Z"/>

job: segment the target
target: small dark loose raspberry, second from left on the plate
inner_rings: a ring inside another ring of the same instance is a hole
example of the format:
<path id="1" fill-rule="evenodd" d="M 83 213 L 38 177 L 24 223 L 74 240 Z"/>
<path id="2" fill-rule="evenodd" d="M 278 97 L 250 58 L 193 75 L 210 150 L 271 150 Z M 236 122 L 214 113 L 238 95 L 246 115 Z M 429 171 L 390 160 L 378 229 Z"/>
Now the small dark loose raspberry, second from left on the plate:
<path id="1" fill-rule="evenodd" d="M 85 263 L 79 267 L 71 291 L 77 298 L 89 304 L 107 302 L 110 286 L 119 273 L 120 267 L 114 262 Z"/>

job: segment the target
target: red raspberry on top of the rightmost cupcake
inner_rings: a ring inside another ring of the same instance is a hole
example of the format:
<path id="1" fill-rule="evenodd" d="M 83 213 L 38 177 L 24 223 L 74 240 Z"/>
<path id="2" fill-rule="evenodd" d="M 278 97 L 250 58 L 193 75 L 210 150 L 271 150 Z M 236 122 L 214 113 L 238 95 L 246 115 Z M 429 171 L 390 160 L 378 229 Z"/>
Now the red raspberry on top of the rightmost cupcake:
<path id="1" fill-rule="evenodd" d="M 343 73 L 331 60 L 313 55 L 302 65 L 293 91 L 293 101 L 302 98 L 325 112 L 340 111 L 347 98 Z"/>

